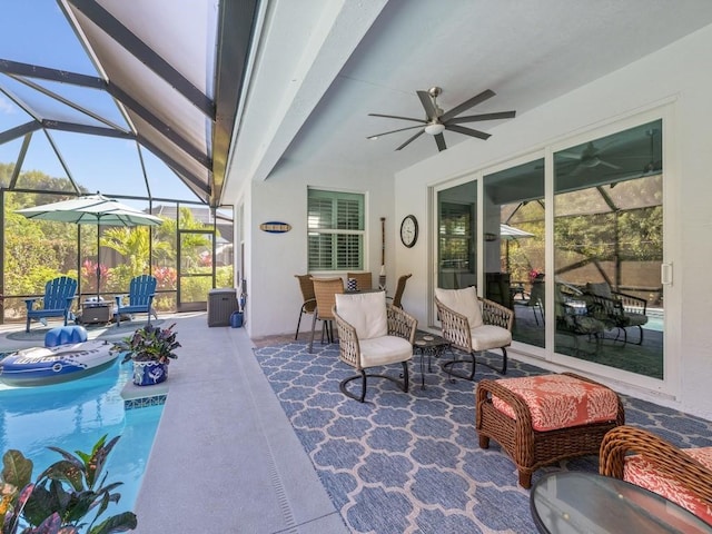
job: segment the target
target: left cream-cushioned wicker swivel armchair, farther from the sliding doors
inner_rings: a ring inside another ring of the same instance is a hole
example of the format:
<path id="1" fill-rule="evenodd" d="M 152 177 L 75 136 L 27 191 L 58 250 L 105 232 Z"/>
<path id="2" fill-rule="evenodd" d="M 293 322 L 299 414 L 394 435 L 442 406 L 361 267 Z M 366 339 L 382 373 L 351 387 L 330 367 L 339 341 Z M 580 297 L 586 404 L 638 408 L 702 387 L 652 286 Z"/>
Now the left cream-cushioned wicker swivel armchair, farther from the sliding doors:
<path id="1" fill-rule="evenodd" d="M 358 375 L 339 384 L 342 393 L 360 403 L 366 398 L 366 378 L 398 379 L 385 374 L 367 374 L 366 369 L 390 364 L 402 364 L 403 385 L 408 390 L 408 360 L 413 358 L 413 340 L 417 320 L 399 308 L 386 305 L 384 291 L 336 295 L 332 310 L 338 329 L 339 358 L 350 365 Z M 362 379 L 360 394 L 348 390 L 347 385 Z"/>

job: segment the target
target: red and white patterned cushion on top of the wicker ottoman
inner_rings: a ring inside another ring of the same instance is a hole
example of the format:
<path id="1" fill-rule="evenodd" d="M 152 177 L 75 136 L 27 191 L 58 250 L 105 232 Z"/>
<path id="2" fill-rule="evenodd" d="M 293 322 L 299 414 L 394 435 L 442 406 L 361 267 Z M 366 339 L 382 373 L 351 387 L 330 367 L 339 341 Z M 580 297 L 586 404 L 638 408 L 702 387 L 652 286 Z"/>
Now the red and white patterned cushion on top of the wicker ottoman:
<path id="1" fill-rule="evenodd" d="M 501 378 L 497 384 L 520 395 L 532 414 L 532 427 L 538 432 L 604 423 L 617 416 L 619 397 L 600 384 L 567 375 L 541 375 Z M 493 395 L 492 404 L 515 418 L 512 407 Z"/>

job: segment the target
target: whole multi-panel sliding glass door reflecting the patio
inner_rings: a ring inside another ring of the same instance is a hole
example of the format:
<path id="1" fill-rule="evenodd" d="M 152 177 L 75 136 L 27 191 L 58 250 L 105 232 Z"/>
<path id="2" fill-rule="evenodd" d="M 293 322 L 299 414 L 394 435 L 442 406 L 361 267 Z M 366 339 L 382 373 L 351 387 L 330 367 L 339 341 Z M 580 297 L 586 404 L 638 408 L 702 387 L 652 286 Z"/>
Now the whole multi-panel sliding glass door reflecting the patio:
<path id="1" fill-rule="evenodd" d="M 437 284 L 484 284 L 534 350 L 662 379 L 663 121 L 563 145 L 438 191 Z"/>

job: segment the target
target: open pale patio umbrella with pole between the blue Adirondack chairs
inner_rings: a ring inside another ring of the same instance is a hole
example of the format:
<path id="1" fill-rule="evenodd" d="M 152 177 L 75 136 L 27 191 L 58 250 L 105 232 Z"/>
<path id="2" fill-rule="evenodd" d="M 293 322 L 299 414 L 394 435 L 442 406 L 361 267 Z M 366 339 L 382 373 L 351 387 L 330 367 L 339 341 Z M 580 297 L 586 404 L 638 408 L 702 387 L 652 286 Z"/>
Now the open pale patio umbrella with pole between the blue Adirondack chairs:
<path id="1" fill-rule="evenodd" d="M 98 192 L 71 200 L 18 209 L 17 212 L 28 219 L 56 220 L 77 225 L 158 226 L 162 222 L 158 217 L 139 211 Z M 99 297 L 99 283 L 101 281 L 99 264 L 99 228 L 97 228 L 97 297 Z"/>

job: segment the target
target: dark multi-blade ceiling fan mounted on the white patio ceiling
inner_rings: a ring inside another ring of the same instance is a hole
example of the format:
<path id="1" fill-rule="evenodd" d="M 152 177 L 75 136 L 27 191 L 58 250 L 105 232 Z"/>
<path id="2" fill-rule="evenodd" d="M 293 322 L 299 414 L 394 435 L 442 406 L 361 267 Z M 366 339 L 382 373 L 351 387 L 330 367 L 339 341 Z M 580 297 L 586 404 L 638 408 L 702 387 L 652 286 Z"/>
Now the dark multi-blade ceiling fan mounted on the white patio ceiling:
<path id="1" fill-rule="evenodd" d="M 465 128 L 459 126 L 463 122 L 475 122 L 479 120 L 496 120 L 496 119 L 512 119 L 516 115 L 516 111 L 498 111 L 494 113 L 481 113 L 481 115 L 471 115 L 467 117 L 457 117 L 463 111 L 468 110 L 469 108 L 484 102 L 485 100 L 495 96 L 494 91 L 487 89 L 486 91 L 481 92 L 472 97 L 468 100 L 465 100 L 459 106 L 455 106 L 453 109 L 448 111 L 444 111 L 437 105 L 437 97 L 441 96 L 443 89 L 439 87 L 432 87 L 427 91 L 415 91 L 421 99 L 421 103 L 425 109 L 425 119 L 416 119 L 413 117 L 398 117 L 395 115 L 382 115 L 382 113 L 368 113 L 369 117 L 384 117 L 388 119 L 400 119 L 400 120 L 411 120 L 414 122 L 419 122 L 418 126 L 409 126 L 406 128 L 399 128 L 397 130 L 384 131 L 383 134 L 376 134 L 375 136 L 369 136 L 367 139 L 377 139 L 380 136 L 387 136 L 389 134 L 396 134 L 398 131 L 413 130 L 415 128 L 419 128 L 421 131 L 415 134 L 413 137 L 408 138 L 403 145 L 400 145 L 396 150 L 400 150 L 407 147 L 415 139 L 421 137 L 423 134 L 428 134 L 435 138 L 435 144 L 437 145 L 437 149 L 439 151 L 446 150 L 447 146 L 445 145 L 445 137 L 443 136 L 443 131 L 449 130 L 455 131 L 457 134 L 464 134 L 465 136 L 476 137 L 478 139 L 487 139 L 491 137 L 490 134 L 485 134 L 484 131 L 473 130 L 472 128 Z"/>

